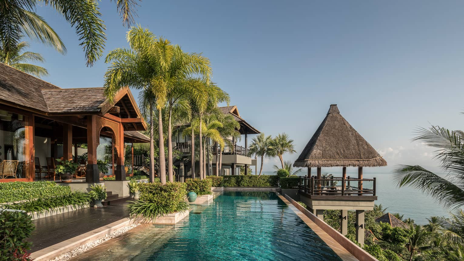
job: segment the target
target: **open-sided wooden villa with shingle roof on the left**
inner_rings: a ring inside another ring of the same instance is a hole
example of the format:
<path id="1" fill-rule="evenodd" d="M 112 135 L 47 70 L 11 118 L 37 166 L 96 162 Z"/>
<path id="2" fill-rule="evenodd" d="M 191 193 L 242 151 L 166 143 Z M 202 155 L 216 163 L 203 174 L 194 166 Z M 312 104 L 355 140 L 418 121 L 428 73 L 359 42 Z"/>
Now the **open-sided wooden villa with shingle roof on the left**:
<path id="1" fill-rule="evenodd" d="M 125 180 L 125 145 L 149 142 L 146 129 L 128 88 L 108 102 L 103 88 L 61 89 L 0 64 L 0 182 L 54 178 L 53 159 L 73 155 L 87 159 L 86 182 L 99 181 L 100 157 Z"/>

